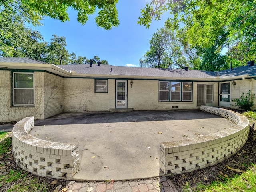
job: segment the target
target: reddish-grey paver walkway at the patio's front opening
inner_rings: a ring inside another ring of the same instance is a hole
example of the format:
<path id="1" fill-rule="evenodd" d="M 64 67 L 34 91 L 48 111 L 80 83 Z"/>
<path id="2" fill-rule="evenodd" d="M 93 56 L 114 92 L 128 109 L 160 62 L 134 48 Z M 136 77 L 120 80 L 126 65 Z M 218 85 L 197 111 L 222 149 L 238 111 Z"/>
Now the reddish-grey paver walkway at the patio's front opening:
<path id="1" fill-rule="evenodd" d="M 178 192 L 166 176 L 145 180 L 66 182 L 67 192 Z"/>

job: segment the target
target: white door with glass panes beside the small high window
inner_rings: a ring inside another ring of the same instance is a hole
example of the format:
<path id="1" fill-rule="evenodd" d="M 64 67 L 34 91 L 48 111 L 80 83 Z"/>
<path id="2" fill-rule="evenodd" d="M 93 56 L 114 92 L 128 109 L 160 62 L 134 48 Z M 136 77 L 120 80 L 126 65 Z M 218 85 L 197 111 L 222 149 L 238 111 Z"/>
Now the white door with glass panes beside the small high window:
<path id="1" fill-rule="evenodd" d="M 116 108 L 127 108 L 126 80 L 116 80 Z"/>

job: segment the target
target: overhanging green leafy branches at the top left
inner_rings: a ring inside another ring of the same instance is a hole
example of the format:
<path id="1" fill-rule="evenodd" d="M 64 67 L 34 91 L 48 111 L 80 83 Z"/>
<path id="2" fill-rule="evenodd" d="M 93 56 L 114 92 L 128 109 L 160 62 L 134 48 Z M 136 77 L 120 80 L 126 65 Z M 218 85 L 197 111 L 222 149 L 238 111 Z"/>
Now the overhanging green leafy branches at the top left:
<path id="1" fill-rule="evenodd" d="M 44 16 L 62 22 L 68 21 L 68 8 L 73 8 L 78 12 L 78 22 L 86 24 L 88 15 L 98 10 L 95 22 L 97 26 L 106 30 L 119 24 L 117 3 L 118 0 L 0 0 L 1 7 L 22 16 L 26 22 L 34 25 L 40 24 Z"/>

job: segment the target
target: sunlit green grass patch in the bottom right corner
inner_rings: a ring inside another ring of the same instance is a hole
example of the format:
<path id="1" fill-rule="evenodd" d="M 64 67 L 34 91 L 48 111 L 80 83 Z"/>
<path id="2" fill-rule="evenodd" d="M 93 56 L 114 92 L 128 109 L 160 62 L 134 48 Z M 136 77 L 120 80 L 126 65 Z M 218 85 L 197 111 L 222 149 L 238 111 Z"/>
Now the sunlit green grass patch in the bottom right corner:
<path id="1" fill-rule="evenodd" d="M 188 187 L 184 189 L 188 191 Z M 241 175 L 234 178 L 227 178 L 226 182 L 212 182 L 210 186 L 198 184 L 195 191 L 204 192 L 252 192 L 256 191 L 256 164 Z"/>

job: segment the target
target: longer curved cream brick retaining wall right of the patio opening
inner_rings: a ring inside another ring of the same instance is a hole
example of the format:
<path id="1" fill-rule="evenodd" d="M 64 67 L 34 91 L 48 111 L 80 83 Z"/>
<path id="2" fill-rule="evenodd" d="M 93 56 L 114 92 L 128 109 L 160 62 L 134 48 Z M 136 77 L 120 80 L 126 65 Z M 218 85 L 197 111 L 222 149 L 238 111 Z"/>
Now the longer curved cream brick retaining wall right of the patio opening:
<path id="1" fill-rule="evenodd" d="M 212 166 L 236 154 L 246 143 L 250 127 L 245 116 L 209 106 L 201 106 L 201 110 L 235 122 L 236 126 L 200 138 L 160 143 L 160 168 L 164 174 Z"/>

